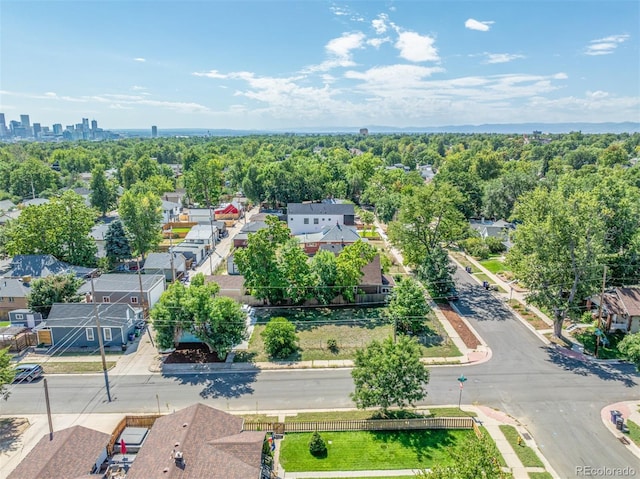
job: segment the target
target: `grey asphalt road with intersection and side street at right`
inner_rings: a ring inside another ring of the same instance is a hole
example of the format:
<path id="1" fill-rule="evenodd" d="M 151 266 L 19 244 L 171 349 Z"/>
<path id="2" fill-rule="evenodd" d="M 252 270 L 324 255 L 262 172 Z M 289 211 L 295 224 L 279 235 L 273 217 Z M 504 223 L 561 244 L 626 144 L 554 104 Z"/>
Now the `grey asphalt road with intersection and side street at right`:
<path id="1" fill-rule="evenodd" d="M 640 476 L 638 459 L 600 420 L 607 404 L 640 397 L 633 367 L 583 364 L 560 355 L 464 271 L 456 280 L 457 306 L 493 357 L 473 366 L 432 368 L 424 404 L 457 404 L 456 378 L 464 373 L 469 380 L 462 402 L 495 407 L 520 420 L 560 477 L 580 477 L 578 466 L 628 466 Z M 114 376 L 111 403 L 102 375 L 50 376 L 48 382 L 54 413 L 168 412 L 196 401 L 248 412 L 353 407 L 350 371 L 339 369 Z M 0 414 L 44 413 L 42 389 L 42 382 L 13 388 Z"/>

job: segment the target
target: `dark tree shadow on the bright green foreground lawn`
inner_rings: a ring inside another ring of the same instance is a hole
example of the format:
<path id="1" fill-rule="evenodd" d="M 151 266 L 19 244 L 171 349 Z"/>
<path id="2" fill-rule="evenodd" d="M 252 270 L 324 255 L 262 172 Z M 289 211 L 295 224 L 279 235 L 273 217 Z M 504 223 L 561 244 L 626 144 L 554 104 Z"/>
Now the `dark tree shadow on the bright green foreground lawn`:
<path id="1" fill-rule="evenodd" d="M 457 438 L 446 429 L 426 429 L 419 431 L 371 431 L 374 439 L 386 446 L 399 443 L 411 450 L 420 462 L 433 460 L 433 451 L 455 447 Z"/>

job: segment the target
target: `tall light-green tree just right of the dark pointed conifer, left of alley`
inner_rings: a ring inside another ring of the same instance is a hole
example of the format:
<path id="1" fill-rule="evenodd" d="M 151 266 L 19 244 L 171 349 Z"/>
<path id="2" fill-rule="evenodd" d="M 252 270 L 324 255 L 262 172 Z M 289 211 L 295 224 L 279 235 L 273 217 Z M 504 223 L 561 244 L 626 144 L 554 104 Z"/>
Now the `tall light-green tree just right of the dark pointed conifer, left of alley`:
<path id="1" fill-rule="evenodd" d="M 135 255 L 144 259 L 161 240 L 162 202 L 153 193 L 134 194 L 126 191 L 120 198 L 118 213 L 131 241 Z"/>

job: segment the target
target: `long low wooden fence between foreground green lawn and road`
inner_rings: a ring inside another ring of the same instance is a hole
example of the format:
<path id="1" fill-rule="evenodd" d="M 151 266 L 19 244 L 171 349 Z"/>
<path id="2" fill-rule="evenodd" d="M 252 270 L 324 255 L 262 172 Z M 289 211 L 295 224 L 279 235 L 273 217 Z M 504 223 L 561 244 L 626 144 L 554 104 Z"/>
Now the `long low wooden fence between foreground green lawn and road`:
<path id="1" fill-rule="evenodd" d="M 406 431 L 409 429 L 472 429 L 472 417 L 425 417 L 418 419 L 357 419 L 307 422 L 245 422 L 245 431 L 337 432 L 337 431 Z"/>

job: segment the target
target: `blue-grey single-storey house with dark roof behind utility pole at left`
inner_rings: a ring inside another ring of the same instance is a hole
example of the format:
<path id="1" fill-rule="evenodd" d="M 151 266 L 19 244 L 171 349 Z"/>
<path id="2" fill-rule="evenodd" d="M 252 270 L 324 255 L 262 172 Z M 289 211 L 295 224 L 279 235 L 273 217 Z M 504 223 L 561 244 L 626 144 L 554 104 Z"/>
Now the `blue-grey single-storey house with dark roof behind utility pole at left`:
<path id="1" fill-rule="evenodd" d="M 123 303 L 98 303 L 98 317 L 105 347 L 120 347 L 134 333 L 142 311 Z M 54 303 L 47 319 L 36 331 L 40 343 L 64 346 L 64 350 L 98 349 L 96 305 L 93 303 Z"/>

